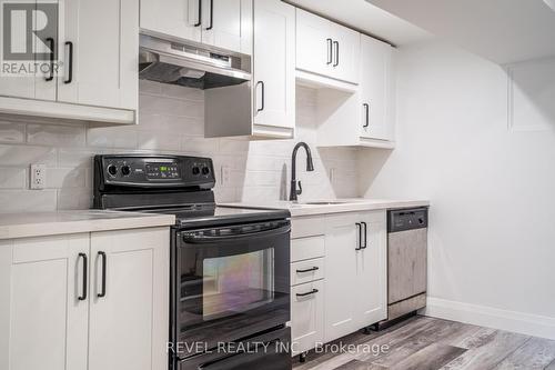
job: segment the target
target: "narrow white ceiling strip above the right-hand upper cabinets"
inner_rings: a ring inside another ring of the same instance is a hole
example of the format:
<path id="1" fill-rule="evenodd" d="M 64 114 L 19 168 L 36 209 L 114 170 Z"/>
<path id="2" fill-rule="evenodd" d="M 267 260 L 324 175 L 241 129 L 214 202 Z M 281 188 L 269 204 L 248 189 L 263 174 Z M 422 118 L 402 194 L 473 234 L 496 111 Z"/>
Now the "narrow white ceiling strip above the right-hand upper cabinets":
<path id="1" fill-rule="evenodd" d="M 374 7 L 365 0 L 284 1 L 350 26 L 364 33 L 375 36 L 395 46 L 430 38 L 430 34 L 422 29 Z"/>

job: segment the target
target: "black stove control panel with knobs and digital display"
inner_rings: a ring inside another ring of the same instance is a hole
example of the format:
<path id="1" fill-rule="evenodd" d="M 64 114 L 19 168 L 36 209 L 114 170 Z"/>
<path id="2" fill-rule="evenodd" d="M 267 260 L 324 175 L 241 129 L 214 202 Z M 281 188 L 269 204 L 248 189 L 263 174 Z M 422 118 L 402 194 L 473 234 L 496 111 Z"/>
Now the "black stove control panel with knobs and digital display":
<path id="1" fill-rule="evenodd" d="M 210 158 L 183 156 L 97 156 L 94 178 L 99 186 L 209 189 L 215 184 Z"/>

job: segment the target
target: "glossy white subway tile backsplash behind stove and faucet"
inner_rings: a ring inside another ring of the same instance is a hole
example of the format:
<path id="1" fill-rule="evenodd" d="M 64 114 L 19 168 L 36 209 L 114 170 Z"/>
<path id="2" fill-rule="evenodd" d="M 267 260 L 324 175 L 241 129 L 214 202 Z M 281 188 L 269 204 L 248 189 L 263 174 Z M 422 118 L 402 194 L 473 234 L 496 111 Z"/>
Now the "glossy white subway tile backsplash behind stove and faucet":
<path id="1" fill-rule="evenodd" d="M 205 139 L 203 92 L 149 81 L 140 84 L 138 126 L 0 118 L 0 212 L 91 207 L 92 157 L 97 153 L 208 156 L 214 159 L 219 201 L 285 199 L 291 152 L 297 141 L 312 148 L 315 167 L 306 173 L 305 156 L 300 151 L 301 199 L 356 197 L 356 151 L 316 148 L 315 91 L 296 90 L 294 140 Z M 29 190 L 31 163 L 47 164 L 47 189 Z M 334 172 L 333 182 L 330 171 Z"/>

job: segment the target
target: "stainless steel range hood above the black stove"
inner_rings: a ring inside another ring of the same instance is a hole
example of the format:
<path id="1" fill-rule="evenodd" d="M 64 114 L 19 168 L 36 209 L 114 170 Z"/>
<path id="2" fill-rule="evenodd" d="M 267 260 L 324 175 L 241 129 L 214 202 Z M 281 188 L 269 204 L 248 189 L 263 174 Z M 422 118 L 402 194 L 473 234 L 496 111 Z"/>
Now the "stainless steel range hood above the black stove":
<path id="1" fill-rule="evenodd" d="M 236 86 L 251 81 L 251 58 L 141 34 L 139 78 L 203 90 Z"/>

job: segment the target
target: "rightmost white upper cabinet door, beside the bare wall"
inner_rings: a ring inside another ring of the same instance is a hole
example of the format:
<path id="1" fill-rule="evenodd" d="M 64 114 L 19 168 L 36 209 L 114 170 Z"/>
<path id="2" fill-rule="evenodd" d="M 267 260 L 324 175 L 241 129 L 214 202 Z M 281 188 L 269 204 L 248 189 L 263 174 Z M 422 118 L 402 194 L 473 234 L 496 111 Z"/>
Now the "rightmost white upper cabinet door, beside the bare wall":
<path id="1" fill-rule="evenodd" d="M 363 36 L 361 41 L 361 136 L 389 140 L 392 128 L 389 122 L 392 48 Z"/>

